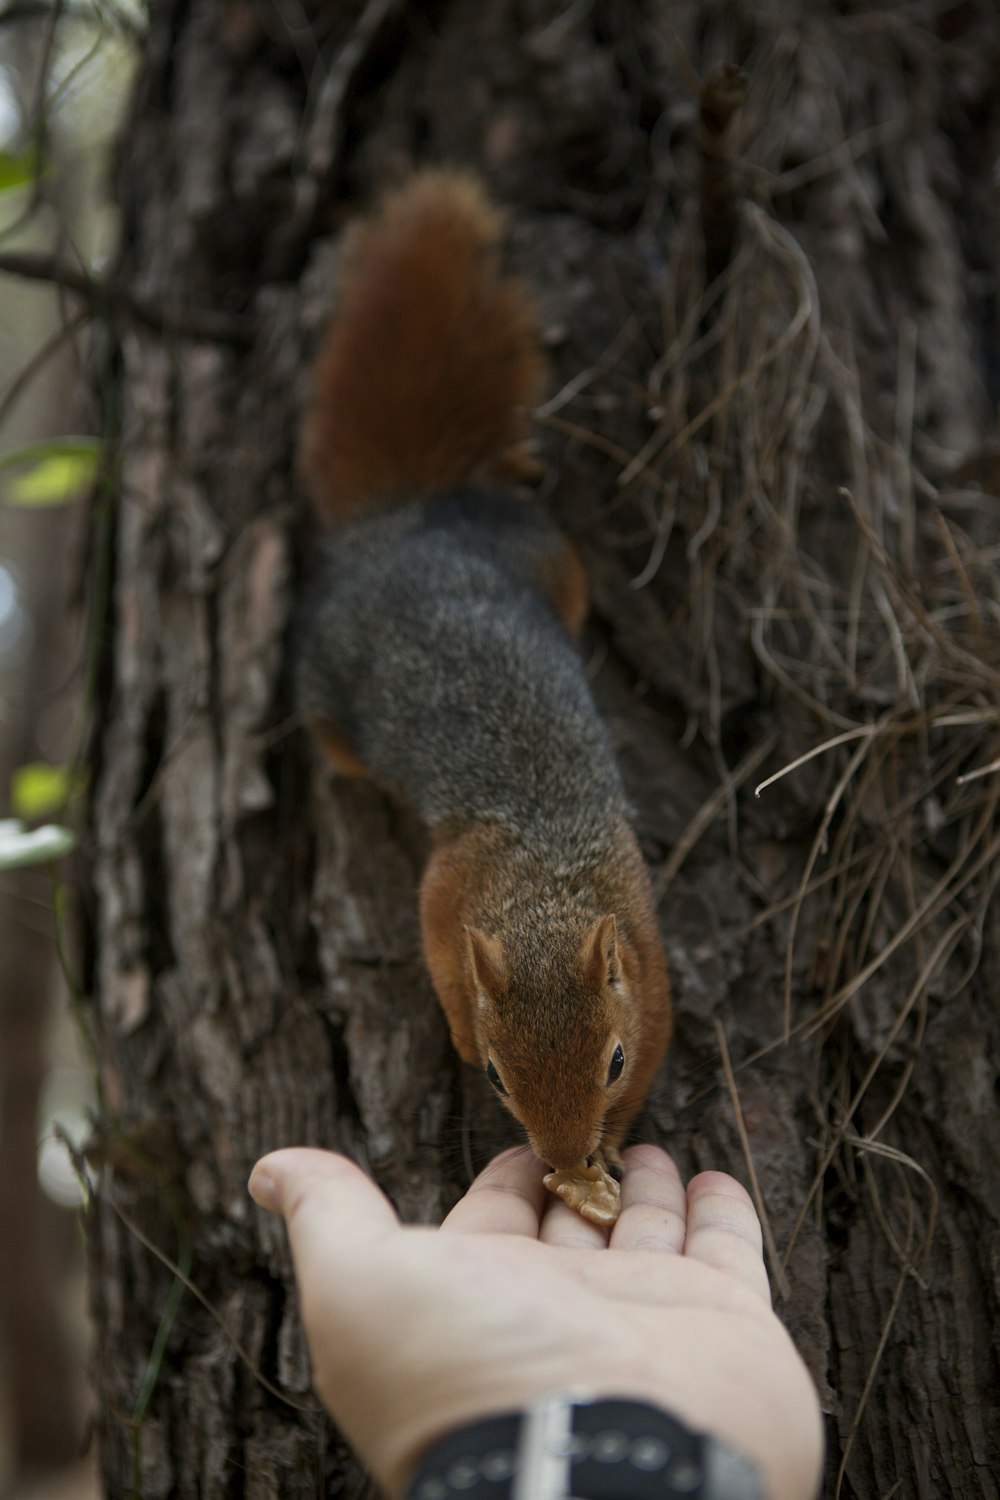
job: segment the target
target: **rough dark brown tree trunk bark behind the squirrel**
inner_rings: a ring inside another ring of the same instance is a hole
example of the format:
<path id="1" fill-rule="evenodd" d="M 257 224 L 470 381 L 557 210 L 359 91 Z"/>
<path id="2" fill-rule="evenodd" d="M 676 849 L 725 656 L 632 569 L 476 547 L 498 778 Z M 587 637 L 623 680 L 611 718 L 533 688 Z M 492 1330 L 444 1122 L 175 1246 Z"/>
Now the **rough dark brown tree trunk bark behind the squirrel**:
<path id="1" fill-rule="evenodd" d="M 999 394 L 999 45 L 987 0 L 153 4 L 120 276 L 169 326 L 121 322 L 84 956 L 109 1496 L 357 1492 L 247 1172 L 337 1146 L 432 1221 L 498 1130 L 421 968 L 420 830 L 288 723 L 331 244 L 426 159 L 486 174 L 540 288 L 543 490 L 675 975 L 645 1134 L 753 1162 L 828 1492 L 996 1494 L 997 777 L 955 777 L 999 754 L 1000 560 L 949 474 Z M 745 104 L 699 136 L 721 63 Z M 183 334 L 207 309 L 232 342 Z"/>

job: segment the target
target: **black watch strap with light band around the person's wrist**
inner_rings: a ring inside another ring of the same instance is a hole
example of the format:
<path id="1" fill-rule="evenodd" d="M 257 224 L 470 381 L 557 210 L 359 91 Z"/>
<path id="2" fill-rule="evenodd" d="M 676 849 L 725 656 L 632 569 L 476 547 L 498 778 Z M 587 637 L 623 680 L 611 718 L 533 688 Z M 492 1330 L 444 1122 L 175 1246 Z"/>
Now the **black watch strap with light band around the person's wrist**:
<path id="1" fill-rule="evenodd" d="M 541 1396 L 424 1454 L 406 1500 L 765 1500 L 754 1466 L 643 1401 Z"/>

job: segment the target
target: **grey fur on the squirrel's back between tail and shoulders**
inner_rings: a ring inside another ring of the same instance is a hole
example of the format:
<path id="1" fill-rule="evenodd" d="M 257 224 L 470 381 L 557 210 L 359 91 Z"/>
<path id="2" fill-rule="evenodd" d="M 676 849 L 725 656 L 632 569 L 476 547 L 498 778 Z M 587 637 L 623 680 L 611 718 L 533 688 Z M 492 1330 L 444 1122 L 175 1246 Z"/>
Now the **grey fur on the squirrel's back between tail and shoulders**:
<path id="1" fill-rule="evenodd" d="M 430 825 L 490 822 L 591 862 L 627 816 L 580 658 L 538 592 L 562 538 L 450 495 L 337 532 L 300 621 L 297 704 Z"/>

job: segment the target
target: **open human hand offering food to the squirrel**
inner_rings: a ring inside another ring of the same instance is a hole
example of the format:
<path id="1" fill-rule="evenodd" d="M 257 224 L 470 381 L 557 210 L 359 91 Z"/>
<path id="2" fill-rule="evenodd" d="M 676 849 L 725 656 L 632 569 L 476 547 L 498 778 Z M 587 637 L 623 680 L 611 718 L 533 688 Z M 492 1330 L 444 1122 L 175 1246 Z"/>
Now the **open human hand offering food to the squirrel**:
<path id="1" fill-rule="evenodd" d="M 390 1496 L 421 1454 L 546 1390 L 649 1401 L 759 1467 L 772 1500 L 817 1492 L 813 1382 L 778 1318 L 744 1188 L 687 1191 L 657 1146 L 625 1152 L 615 1227 L 546 1192 L 523 1148 L 441 1228 L 403 1227 L 343 1156 L 264 1156 L 255 1200 L 288 1224 L 313 1384 Z"/>

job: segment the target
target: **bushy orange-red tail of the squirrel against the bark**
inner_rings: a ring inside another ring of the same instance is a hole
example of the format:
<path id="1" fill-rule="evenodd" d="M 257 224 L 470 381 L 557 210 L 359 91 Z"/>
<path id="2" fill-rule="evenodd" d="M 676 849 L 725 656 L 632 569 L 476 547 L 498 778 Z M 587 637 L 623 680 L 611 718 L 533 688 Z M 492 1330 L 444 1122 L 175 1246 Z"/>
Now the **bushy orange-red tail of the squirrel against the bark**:
<path id="1" fill-rule="evenodd" d="M 523 440 L 544 360 L 501 230 L 475 178 L 429 170 L 346 231 L 301 454 L 325 519 L 456 486 Z"/>

